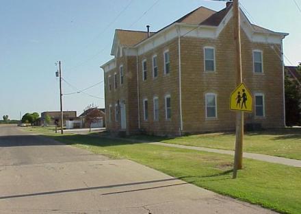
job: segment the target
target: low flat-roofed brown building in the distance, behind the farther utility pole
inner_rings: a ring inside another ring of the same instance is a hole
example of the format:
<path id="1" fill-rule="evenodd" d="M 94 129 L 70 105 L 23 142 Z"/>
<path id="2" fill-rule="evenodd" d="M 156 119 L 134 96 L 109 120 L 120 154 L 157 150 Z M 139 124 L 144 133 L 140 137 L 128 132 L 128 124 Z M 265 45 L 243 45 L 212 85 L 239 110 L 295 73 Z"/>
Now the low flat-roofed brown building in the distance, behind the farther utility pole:
<path id="1" fill-rule="evenodd" d="M 51 118 L 50 123 L 46 123 L 47 115 Z M 77 120 L 77 112 L 76 111 L 64 111 L 63 112 L 63 126 L 66 126 L 66 121 L 75 121 Z M 60 111 L 49 111 L 41 113 L 41 125 L 49 125 L 54 126 L 57 123 L 58 126 L 61 124 L 61 112 Z"/>

